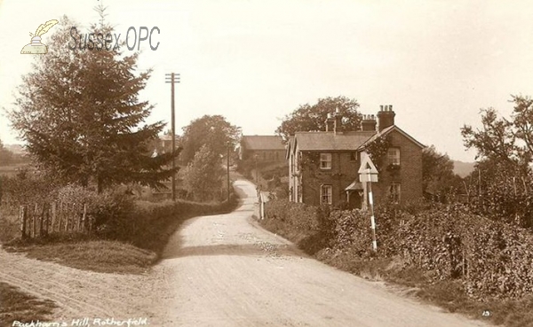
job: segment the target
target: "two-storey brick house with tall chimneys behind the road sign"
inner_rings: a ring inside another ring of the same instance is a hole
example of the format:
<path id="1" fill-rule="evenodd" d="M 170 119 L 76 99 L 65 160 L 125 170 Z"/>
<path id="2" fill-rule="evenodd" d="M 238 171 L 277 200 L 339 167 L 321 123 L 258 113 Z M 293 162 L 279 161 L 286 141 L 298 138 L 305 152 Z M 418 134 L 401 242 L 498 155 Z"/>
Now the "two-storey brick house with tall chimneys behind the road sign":
<path id="1" fill-rule="evenodd" d="M 290 137 L 290 201 L 365 208 L 368 183 L 359 168 L 365 148 L 380 136 L 390 140 L 381 162 L 378 183 L 372 183 L 375 203 L 385 199 L 404 204 L 422 198 L 422 149 L 425 147 L 394 125 L 392 105 L 381 105 L 377 120 L 363 115 L 361 130 L 343 131 L 342 117 L 330 113 L 326 131 L 297 132 Z"/>

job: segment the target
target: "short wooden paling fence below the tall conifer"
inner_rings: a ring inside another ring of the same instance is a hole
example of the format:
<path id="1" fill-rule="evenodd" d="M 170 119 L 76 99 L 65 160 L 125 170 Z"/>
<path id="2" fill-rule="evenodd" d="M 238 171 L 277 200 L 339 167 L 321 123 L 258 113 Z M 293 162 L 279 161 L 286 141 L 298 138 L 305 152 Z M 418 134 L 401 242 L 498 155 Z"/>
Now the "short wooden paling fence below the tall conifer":
<path id="1" fill-rule="evenodd" d="M 87 205 L 52 202 L 52 204 L 20 206 L 20 236 L 44 237 L 57 232 L 89 232 L 93 219 Z"/>

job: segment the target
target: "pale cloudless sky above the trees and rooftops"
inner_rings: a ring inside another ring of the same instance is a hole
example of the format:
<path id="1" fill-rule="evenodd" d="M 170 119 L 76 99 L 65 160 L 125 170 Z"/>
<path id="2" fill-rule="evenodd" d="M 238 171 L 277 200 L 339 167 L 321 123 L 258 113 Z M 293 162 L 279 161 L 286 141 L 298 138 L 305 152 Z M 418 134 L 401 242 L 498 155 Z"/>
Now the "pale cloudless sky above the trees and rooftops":
<path id="1" fill-rule="evenodd" d="M 99 0 L 0 0 L 0 107 L 27 74 L 29 32 L 67 15 L 84 31 Z M 157 51 L 141 45 L 140 68 L 154 72 L 141 94 L 151 121 L 170 121 L 165 73 L 176 87 L 177 130 L 221 114 L 244 135 L 273 135 L 280 119 L 319 97 L 355 98 L 362 113 L 394 105 L 396 125 L 454 160 L 465 152 L 463 124 L 480 109 L 511 113 L 511 95 L 533 96 L 533 2 L 515 1 L 120 1 L 107 19 L 159 27 Z M 54 27 L 48 35 L 52 34 Z M 48 35 L 44 35 L 46 44 Z M 0 118 L 4 144 L 20 143 Z M 170 128 L 170 124 L 169 124 Z"/>

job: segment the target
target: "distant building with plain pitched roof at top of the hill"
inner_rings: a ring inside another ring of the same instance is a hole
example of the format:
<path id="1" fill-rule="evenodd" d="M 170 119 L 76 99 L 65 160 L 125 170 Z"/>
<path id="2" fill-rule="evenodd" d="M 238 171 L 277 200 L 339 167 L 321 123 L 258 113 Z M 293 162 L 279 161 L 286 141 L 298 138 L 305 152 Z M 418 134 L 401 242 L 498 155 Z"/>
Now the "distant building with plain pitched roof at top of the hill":
<path id="1" fill-rule="evenodd" d="M 285 162 L 285 144 L 282 136 L 243 136 L 239 147 L 240 160 L 258 163 Z"/>

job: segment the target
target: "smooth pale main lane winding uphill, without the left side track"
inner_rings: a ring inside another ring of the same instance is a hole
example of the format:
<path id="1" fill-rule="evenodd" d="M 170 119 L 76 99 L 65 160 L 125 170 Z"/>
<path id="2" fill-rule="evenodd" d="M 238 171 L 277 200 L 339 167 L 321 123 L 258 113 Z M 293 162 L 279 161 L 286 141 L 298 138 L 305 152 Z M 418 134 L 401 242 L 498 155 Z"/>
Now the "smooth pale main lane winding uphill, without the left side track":
<path id="1" fill-rule="evenodd" d="M 254 186 L 232 214 L 189 220 L 160 268 L 164 326 L 483 326 L 404 299 L 300 253 L 251 218 Z"/>

